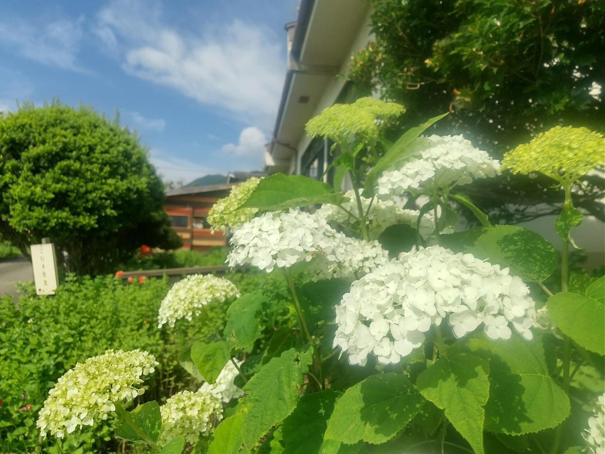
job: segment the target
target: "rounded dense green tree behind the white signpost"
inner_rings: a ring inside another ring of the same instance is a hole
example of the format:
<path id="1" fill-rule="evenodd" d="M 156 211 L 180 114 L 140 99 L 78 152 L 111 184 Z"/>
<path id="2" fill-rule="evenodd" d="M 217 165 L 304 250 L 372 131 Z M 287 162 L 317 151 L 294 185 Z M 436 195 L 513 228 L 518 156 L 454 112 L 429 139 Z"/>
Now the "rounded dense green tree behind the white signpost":
<path id="1" fill-rule="evenodd" d="M 70 271 L 92 275 L 142 244 L 173 249 L 163 201 L 147 151 L 117 121 L 58 102 L 0 116 L 0 235 L 26 257 L 50 237 Z"/>

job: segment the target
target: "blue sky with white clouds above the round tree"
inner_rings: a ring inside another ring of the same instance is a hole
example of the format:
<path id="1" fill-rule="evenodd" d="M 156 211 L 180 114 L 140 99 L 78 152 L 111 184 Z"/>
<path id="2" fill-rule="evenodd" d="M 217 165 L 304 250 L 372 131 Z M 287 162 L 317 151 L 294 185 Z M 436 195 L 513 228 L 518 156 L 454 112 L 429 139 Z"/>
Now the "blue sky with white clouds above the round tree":
<path id="1" fill-rule="evenodd" d="M 0 0 L 0 110 L 93 105 L 165 179 L 261 169 L 299 0 Z"/>

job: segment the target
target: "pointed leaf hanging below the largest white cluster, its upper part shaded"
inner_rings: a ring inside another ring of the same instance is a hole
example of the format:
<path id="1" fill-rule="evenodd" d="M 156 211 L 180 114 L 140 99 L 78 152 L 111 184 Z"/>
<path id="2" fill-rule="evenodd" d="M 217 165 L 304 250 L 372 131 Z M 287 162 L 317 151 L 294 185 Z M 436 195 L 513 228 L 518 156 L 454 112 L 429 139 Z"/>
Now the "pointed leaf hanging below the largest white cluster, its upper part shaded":
<path id="1" fill-rule="evenodd" d="M 460 351 L 442 354 L 420 373 L 416 387 L 420 393 L 445 410 L 454 428 L 483 454 L 483 407 L 489 396 L 489 365 L 476 355 Z"/>

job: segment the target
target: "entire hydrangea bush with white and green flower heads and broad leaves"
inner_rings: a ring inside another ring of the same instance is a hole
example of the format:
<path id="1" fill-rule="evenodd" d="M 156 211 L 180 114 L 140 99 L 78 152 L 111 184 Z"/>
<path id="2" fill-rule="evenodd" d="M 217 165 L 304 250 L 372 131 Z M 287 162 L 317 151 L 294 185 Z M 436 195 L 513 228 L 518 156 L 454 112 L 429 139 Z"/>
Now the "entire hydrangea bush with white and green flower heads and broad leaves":
<path id="1" fill-rule="evenodd" d="M 117 438 L 148 452 L 603 452 L 605 278 L 571 278 L 569 254 L 583 217 L 571 194 L 603 166 L 603 136 L 554 128 L 500 163 L 427 133 L 445 114 L 388 141 L 403 111 L 365 98 L 310 120 L 307 133 L 340 150 L 333 187 L 275 174 L 221 200 L 213 223 L 232 227 L 229 264 L 281 275 L 286 291 L 229 276 L 171 288 L 162 332 L 187 320 L 212 331 L 180 355 L 197 390 L 140 403 L 159 358 L 108 349 L 56 381 L 41 435 L 116 417 Z M 463 192 L 511 171 L 559 189 L 560 260 Z M 353 188 L 339 192 L 347 173 Z M 410 194 L 418 209 L 397 203 Z M 457 231 L 462 210 L 481 226 Z M 217 306 L 224 323 L 208 315 Z"/>

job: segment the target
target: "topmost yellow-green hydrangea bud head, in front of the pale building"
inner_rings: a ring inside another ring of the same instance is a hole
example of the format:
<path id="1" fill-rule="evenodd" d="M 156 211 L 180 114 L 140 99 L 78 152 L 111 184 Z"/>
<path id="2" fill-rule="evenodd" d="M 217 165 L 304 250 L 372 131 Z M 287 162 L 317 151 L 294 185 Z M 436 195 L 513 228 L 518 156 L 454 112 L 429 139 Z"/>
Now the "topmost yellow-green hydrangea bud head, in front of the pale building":
<path id="1" fill-rule="evenodd" d="M 405 107 L 401 104 L 362 97 L 353 104 L 335 104 L 325 108 L 321 114 L 307 122 L 305 129 L 310 137 L 330 137 L 336 142 L 354 134 L 377 139 L 380 132 L 379 120 L 396 117 L 404 112 Z"/>

